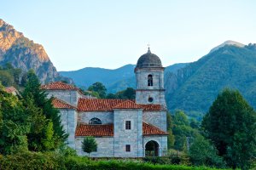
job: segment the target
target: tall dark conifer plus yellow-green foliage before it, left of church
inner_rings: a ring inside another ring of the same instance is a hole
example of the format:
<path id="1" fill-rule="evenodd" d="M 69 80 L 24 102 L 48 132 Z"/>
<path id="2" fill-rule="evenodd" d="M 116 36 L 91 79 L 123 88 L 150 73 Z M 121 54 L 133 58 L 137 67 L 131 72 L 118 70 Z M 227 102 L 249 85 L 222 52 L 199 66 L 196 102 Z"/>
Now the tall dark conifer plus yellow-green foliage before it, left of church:
<path id="1" fill-rule="evenodd" d="M 33 71 L 27 74 L 26 88 L 22 93 L 23 105 L 32 116 L 32 131 L 28 135 L 31 150 L 51 150 L 67 139 L 61 126 L 59 111 L 52 105 L 52 99 L 40 88 L 38 77 Z"/>

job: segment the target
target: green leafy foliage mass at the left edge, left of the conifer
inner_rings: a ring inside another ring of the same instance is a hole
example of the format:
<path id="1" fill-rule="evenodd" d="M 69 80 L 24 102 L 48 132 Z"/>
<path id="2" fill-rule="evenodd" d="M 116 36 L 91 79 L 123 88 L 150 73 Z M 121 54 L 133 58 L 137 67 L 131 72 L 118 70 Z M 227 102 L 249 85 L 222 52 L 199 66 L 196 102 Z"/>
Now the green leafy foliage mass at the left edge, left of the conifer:
<path id="1" fill-rule="evenodd" d="M 0 86 L 0 153 L 27 150 L 26 134 L 30 124 L 20 100 Z"/>

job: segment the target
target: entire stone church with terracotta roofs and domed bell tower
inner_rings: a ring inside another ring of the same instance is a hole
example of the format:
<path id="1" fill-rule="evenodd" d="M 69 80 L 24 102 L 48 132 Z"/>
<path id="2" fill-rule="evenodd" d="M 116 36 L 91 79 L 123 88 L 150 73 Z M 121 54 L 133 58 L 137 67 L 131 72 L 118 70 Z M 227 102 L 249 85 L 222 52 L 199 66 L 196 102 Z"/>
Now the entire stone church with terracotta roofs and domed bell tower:
<path id="1" fill-rule="evenodd" d="M 61 123 L 67 144 L 81 156 L 84 137 L 96 139 L 91 157 L 164 156 L 167 150 L 164 70 L 160 58 L 148 53 L 137 60 L 136 99 L 92 99 L 72 85 L 43 85 Z"/>

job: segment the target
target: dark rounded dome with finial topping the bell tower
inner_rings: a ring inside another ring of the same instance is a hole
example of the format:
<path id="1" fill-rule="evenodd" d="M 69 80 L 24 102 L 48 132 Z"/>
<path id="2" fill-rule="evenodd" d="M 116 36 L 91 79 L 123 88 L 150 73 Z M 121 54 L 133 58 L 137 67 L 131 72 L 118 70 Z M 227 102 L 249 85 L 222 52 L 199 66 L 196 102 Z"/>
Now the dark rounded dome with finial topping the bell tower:
<path id="1" fill-rule="evenodd" d="M 148 48 L 148 53 L 143 54 L 137 60 L 136 68 L 147 68 L 147 67 L 162 67 L 160 58 L 156 54 L 152 54 Z"/>

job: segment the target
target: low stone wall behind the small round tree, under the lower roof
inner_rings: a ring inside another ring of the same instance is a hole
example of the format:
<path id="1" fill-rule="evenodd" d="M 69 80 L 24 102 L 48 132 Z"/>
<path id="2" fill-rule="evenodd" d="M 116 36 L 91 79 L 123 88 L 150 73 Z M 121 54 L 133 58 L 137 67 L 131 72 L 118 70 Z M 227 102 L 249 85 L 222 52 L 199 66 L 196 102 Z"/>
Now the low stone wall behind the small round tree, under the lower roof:
<path id="1" fill-rule="evenodd" d="M 95 138 L 97 143 L 96 152 L 91 152 L 91 157 L 113 157 L 113 137 L 98 137 Z M 86 152 L 82 150 L 82 141 L 84 137 L 77 137 L 75 139 L 76 150 L 79 156 L 88 156 Z"/>

